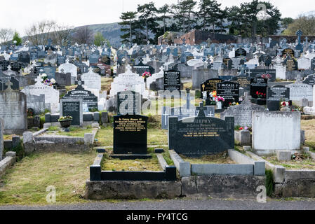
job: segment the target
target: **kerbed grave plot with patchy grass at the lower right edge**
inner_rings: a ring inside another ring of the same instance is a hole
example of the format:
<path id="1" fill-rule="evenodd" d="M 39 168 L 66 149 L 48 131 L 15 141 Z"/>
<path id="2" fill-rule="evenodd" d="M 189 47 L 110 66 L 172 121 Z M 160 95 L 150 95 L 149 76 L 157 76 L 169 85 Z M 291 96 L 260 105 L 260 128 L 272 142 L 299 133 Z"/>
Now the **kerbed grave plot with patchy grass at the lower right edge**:
<path id="1" fill-rule="evenodd" d="M 278 151 L 276 155 L 260 157 L 247 152 L 255 161 L 265 162 L 272 176 L 269 194 L 279 197 L 315 197 L 315 153 L 308 147 L 301 151 Z"/>

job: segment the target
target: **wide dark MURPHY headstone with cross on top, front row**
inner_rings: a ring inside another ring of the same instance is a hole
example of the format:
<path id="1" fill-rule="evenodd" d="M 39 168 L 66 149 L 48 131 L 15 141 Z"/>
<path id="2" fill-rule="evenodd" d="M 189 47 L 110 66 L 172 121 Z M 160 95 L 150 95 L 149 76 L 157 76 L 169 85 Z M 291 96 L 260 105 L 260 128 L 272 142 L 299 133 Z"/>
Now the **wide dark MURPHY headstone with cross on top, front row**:
<path id="1" fill-rule="evenodd" d="M 168 118 L 168 148 L 181 155 L 199 158 L 234 148 L 234 118 L 206 117 L 203 103 L 197 117 Z"/>

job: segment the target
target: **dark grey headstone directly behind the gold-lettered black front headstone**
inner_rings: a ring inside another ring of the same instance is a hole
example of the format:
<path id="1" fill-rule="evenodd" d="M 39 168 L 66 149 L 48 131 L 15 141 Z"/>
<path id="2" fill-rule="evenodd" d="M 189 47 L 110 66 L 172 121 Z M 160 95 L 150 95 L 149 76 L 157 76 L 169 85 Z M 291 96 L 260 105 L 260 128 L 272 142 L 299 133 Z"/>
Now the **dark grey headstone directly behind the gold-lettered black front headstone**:
<path id="1" fill-rule="evenodd" d="M 141 96 L 139 92 L 123 91 L 117 93 L 118 115 L 140 115 Z"/>

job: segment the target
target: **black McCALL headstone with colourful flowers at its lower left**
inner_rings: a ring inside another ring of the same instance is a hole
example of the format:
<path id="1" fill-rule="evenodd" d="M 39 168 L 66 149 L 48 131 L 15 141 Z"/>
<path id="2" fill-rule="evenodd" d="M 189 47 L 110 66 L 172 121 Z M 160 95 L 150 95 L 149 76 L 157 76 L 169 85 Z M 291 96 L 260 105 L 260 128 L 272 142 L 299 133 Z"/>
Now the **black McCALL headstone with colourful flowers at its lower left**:
<path id="1" fill-rule="evenodd" d="M 226 109 L 229 103 L 239 103 L 239 83 L 217 83 L 217 96 L 223 97 L 222 108 Z"/>

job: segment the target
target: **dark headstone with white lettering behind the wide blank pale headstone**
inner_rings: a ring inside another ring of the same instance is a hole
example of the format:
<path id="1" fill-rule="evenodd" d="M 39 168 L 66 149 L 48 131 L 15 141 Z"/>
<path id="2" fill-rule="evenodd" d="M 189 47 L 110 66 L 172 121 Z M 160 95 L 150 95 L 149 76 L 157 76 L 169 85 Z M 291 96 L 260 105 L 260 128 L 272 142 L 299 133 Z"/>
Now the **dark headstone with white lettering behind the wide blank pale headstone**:
<path id="1" fill-rule="evenodd" d="M 269 111 L 279 111 L 281 102 L 290 100 L 290 88 L 274 85 L 267 88 L 267 108 Z"/>

